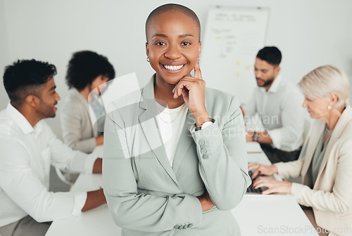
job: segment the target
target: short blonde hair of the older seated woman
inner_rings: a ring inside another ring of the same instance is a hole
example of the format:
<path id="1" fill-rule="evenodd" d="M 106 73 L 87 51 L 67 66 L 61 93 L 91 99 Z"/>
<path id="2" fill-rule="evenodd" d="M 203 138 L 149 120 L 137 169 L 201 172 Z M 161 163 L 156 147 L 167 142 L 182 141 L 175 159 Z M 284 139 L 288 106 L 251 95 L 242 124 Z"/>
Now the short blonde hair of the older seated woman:
<path id="1" fill-rule="evenodd" d="M 347 107 L 349 103 L 349 82 L 342 70 L 333 65 L 324 65 L 306 74 L 298 83 L 304 96 L 311 99 L 326 98 L 330 93 L 337 94 L 339 109 Z"/>

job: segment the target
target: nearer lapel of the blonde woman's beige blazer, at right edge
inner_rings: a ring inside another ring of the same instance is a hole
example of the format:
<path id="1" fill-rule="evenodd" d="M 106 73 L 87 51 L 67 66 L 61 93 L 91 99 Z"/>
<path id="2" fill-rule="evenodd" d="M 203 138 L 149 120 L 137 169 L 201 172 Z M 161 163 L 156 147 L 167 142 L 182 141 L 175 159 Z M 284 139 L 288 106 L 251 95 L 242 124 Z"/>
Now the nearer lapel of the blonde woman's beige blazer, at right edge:
<path id="1" fill-rule="evenodd" d="M 332 136 L 329 140 L 329 143 L 327 144 L 327 150 L 325 152 L 324 157 L 322 158 L 322 163 L 320 164 L 319 171 L 318 171 L 318 177 L 317 180 L 322 173 L 322 170 L 325 168 L 327 164 L 327 159 L 329 159 L 330 152 L 332 151 L 332 147 L 334 144 L 337 142 L 337 140 L 340 138 L 342 131 L 344 131 L 344 128 L 346 124 L 350 121 L 348 118 L 351 117 L 351 107 L 346 107 L 344 112 L 342 112 L 339 120 L 337 121 L 337 124 L 334 128 L 334 131 L 332 132 Z M 317 183 L 317 181 L 315 181 Z"/>

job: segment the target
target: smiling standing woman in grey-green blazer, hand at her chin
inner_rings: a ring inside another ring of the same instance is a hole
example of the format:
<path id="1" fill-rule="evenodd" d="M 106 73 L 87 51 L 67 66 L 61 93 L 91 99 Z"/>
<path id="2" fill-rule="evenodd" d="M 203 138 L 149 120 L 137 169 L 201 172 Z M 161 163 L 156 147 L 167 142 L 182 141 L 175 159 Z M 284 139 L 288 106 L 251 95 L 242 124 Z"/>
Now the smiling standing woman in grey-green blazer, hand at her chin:
<path id="1" fill-rule="evenodd" d="M 234 96 L 206 89 L 200 53 L 191 9 L 152 11 L 146 55 L 156 74 L 104 131 L 104 191 L 122 235 L 240 235 L 230 209 L 251 183 L 244 120 Z"/>

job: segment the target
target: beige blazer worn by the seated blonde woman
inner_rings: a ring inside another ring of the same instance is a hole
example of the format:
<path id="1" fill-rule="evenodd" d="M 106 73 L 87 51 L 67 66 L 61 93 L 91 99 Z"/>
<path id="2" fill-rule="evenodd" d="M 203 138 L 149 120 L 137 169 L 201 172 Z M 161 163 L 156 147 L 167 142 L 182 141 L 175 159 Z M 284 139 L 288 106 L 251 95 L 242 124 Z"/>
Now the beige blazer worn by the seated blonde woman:
<path id="1" fill-rule="evenodd" d="M 313 208 L 316 223 L 330 235 L 352 235 L 352 110 L 346 107 L 337 122 L 322 159 L 313 189 L 307 175 L 325 122 L 317 120 L 306 138 L 306 154 L 295 162 L 277 163 L 279 176 L 302 176 L 302 184 L 292 183 L 291 195 L 299 204 Z M 303 147 L 304 149 L 304 147 Z"/>

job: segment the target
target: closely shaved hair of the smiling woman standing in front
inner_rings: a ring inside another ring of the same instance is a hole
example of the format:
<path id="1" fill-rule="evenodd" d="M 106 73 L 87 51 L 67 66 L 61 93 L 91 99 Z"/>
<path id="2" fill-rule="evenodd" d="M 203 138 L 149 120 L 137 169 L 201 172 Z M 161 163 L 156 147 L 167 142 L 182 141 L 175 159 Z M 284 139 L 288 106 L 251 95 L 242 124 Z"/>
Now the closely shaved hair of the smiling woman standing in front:
<path id="1" fill-rule="evenodd" d="M 196 26 L 199 29 L 199 40 L 201 39 L 201 22 L 199 22 L 198 16 L 196 15 L 196 13 L 194 13 L 194 11 L 187 8 L 187 6 L 182 6 L 180 4 L 165 4 L 155 8 L 149 14 L 148 18 L 146 18 L 146 32 L 148 31 L 150 22 L 151 20 L 153 20 L 153 18 L 155 18 L 157 15 L 160 15 L 161 13 L 170 12 L 170 11 L 180 12 L 180 13 L 183 13 L 184 15 L 189 16 L 196 23 Z"/>

